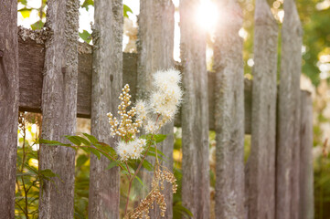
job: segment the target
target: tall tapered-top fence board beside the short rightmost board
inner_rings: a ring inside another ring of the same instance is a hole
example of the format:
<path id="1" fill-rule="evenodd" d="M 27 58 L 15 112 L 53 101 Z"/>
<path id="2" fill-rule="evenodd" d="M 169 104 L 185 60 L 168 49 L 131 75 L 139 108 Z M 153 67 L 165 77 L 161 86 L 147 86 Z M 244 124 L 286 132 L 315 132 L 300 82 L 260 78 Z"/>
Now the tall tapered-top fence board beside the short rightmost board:
<path id="1" fill-rule="evenodd" d="M 284 1 L 284 12 L 277 125 L 276 218 L 297 219 L 302 26 L 294 0 Z"/>

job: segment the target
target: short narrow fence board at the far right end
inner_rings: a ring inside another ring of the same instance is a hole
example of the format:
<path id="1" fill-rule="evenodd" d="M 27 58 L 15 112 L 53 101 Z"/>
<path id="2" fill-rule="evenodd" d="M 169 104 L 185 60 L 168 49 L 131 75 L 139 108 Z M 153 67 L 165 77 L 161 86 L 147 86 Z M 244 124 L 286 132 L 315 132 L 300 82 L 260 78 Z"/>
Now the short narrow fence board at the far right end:
<path id="1" fill-rule="evenodd" d="M 314 219 L 313 100 L 301 92 L 299 218 Z"/>

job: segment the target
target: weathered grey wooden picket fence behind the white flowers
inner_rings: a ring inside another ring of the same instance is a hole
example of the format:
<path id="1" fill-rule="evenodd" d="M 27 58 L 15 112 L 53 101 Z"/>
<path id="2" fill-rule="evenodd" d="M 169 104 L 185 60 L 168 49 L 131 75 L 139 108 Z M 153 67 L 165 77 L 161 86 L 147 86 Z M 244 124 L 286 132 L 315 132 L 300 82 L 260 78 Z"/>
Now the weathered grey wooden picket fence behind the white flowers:
<path id="1" fill-rule="evenodd" d="M 302 27 L 293 0 L 284 1 L 281 83 L 277 83 L 278 24 L 266 0 L 255 1 L 253 81 L 243 78 L 242 26 L 236 0 L 223 12 L 214 45 L 215 72 L 206 68 L 206 34 L 193 13 L 198 0 L 181 0 L 181 63 L 173 60 L 171 0 L 141 0 L 137 54 L 122 54 L 122 1 L 95 1 L 91 47 L 78 43 L 79 0 L 48 0 L 44 30 L 18 28 L 17 2 L 0 1 L 0 218 L 15 217 L 18 110 L 42 112 L 42 138 L 75 132 L 76 116 L 91 119 L 91 134 L 113 144 L 106 113 L 122 85 L 144 99 L 157 69 L 183 74 L 180 114 L 161 149 L 172 157 L 173 127 L 182 127 L 182 201 L 194 218 L 209 218 L 208 130 L 216 131 L 216 218 L 314 217 L 312 99 L 300 90 Z M 244 134 L 251 134 L 244 164 Z M 39 218 L 73 218 L 74 151 L 40 147 L 40 168 L 65 182 L 40 188 Z M 169 162 L 168 168 L 172 169 Z M 90 161 L 89 218 L 119 217 L 118 169 Z M 145 174 L 144 180 L 150 176 Z M 60 193 L 58 192 L 60 191 Z M 172 195 L 166 196 L 172 218 Z M 156 212 L 151 213 L 153 218 Z"/>

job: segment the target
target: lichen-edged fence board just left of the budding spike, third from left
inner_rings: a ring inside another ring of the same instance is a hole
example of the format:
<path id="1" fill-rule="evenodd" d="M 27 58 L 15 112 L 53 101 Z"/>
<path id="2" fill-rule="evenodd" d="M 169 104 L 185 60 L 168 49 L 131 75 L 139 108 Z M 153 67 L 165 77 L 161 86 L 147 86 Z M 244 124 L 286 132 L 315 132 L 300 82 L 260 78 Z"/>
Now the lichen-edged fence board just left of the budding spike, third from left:
<path id="1" fill-rule="evenodd" d="M 107 113 L 117 116 L 122 90 L 122 0 L 94 3 L 91 134 L 115 146 Z M 90 219 L 119 218 L 119 168 L 107 170 L 109 161 L 90 157 Z"/>

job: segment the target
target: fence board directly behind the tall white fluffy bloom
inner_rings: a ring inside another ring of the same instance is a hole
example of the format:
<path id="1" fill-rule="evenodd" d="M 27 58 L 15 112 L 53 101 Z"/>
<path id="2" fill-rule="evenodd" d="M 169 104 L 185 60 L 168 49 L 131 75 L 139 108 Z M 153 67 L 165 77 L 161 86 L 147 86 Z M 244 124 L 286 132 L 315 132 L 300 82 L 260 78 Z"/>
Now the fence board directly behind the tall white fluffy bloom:
<path id="1" fill-rule="evenodd" d="M 174 11 L 175 7 L 171 0 L 142 0 L 140 2 L 139 16 L 139 40 L 138 40 L 138 71 L 137 88 L 138 97 L 147 99 L 149 91 L 152 89 L 152 74 L 161 69 L 174 68 Z M 173 169 L 173 135 L 174 123 L 166 124 L 161 130 L 167 137 L 159 145 L 159 150 L 163 151 L 168 158 L 165 166 Z M 152 175 L 144 172 L 145 184 L 150 184 Z M 165 186 L 165 203 L 167 210 L 165 218 L 172 218 L 172 190 L 170 184 Z M 158 207 L 151 210 L 150 216 L 159 217 Z"/>

